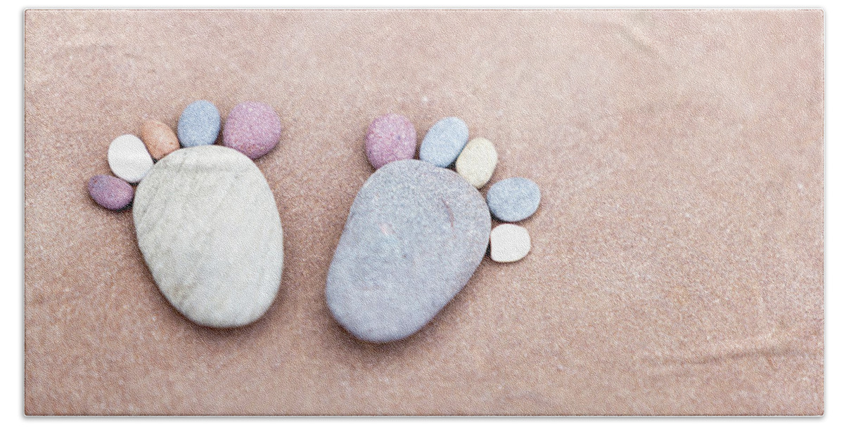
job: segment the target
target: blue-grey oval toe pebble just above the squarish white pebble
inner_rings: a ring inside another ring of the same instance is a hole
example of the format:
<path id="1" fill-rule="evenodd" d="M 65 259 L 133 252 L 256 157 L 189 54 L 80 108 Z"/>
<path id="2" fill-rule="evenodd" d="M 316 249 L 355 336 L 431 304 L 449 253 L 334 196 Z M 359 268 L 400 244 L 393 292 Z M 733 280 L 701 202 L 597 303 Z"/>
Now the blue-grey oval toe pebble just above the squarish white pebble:
<path id="1" fill-rule="evenodd" d="M 492 216 L 503 222 L 517 222 L 533 215 L 539 207 L 539 186 L 527 178 L 498 181 L 486 192 Z"/>

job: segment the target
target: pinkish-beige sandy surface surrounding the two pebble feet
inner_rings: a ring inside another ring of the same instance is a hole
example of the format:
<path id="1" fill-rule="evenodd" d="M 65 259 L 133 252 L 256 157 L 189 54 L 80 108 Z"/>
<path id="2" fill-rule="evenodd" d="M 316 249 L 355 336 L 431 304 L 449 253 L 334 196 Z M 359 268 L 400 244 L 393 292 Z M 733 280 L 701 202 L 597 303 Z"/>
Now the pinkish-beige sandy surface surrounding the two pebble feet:
<path id="1" fill-rule="evenodd" d="M 821 414 L 824 15 L 25 13 L 27 414 Z M 282 290 L 230 331 L 157 290 L 85 184 L 144 118 L 268 102 Z M 534 179 L 533 251 L 418 334 L 331 318 L 366 127 L 459 115 Z"/>

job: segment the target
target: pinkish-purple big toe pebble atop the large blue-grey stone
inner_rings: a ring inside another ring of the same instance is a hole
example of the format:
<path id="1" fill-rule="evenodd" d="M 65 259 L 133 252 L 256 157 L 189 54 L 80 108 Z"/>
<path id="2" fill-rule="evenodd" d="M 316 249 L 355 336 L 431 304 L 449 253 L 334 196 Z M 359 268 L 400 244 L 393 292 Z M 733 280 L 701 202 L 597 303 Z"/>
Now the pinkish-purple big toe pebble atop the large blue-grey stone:
<path id="1" fill-rule="evenodd" d="M 376 169 L 390 162 L 414 158 L 416 128 L 403 115 L 382 115 L 372 120 L 365 147 L 366 158 Z"/>

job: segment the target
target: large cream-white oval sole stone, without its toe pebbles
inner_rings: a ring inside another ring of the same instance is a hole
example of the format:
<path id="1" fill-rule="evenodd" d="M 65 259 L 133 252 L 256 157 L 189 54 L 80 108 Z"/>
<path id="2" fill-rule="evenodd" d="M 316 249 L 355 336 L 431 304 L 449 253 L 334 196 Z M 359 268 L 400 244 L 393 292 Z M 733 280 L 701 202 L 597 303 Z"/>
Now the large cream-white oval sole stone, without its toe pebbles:
<path id="1" fill-rule="evenodd" d="M 267 180 L 241 152 L 183 148 L 155 163 L 133 205 L 143 259 L 167 301 L 212 328 L 252 323 L 279 291 L 279 211 Z"/>

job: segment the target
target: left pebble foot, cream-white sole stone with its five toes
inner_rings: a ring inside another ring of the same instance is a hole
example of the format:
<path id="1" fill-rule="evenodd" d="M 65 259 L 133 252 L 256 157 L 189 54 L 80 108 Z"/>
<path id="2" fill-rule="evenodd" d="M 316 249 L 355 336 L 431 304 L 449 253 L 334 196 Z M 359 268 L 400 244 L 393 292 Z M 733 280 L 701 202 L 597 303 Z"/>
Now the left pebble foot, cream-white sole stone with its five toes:
<path id="1" fill-rule="evenodd" d="M 260 318 L 279 291 L 283 231 L 267 180 L 252 159 L 278 145 L 281 120 L 269 104 L 219 110 L 187 105 L 177 131 L 146 120 L 141 138 L 111 141 L 116 175 L 89 180 L 106 209 L 133 207 L 138 246 L 167 301 L 192 322 L 234 328 Z M 133 189 L 130 184 L 138 184 Z"/>

